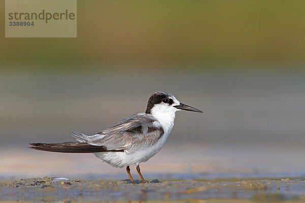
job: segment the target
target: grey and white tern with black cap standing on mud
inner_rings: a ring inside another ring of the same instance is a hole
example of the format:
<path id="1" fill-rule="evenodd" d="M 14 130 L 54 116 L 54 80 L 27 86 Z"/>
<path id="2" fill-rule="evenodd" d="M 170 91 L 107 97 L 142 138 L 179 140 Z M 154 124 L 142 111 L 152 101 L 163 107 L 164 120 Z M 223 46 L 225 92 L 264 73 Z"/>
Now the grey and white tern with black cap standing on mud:
<path id="1" fill-rule="evenodd" d="M 112 127 L 91 136 L 72 131 L 77 142 L 65 143 L 30 143 L 31 149 L 63 152 L 63 153 L 94 153 L 111 166 L 126 167 L 132 184 L 130 165 L 136 170 L 142 183 L 146 183 L 140 163 L 156 155 L 174 126 L 175 113 L 180 110 L 199 112 L 194 107 L 180 103 L 172 94 L 158 91 L 152 94 L 147 102 L 145 113 L 136 113 Z"/>

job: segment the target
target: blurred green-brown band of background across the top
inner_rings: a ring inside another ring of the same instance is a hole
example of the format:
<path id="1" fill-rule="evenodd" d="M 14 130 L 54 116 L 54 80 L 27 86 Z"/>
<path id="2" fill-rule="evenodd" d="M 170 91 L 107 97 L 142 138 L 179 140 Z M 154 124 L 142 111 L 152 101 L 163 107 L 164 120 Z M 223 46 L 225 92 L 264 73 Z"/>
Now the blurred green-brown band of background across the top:
<path id="1" fill-rule="evenodd" d="M 1 15 L 4 19 L 4 2 Z M 78 1 L 76 39 L 6 39 L 3 69 L 305 62 L 304 1 Z M 39 64 L 38 66 L 35 66 Z M 51 67 L 50 67 L 51 66 Z M 231 66 L 230 66 L 231 67 Z"/>

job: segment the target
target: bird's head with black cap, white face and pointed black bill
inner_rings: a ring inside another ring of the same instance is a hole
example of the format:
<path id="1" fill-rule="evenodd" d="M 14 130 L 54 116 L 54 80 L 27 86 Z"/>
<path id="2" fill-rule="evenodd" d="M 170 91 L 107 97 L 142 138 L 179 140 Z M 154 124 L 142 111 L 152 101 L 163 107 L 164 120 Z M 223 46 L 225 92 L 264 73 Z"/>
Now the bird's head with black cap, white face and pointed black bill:
<path id="1" fill-rule="evenodd" d="M 156 92 L 150 96 L 147 103 L 146 114 L 162 114 L 162 113 L 175 113 L 179 110 L 186 111 L 194 111 L 200 112 L 202 111 L 195 109 L 194 107 L 190 107 L 188 105 L 180 103 L 172 94 L 167 92 Z"/>

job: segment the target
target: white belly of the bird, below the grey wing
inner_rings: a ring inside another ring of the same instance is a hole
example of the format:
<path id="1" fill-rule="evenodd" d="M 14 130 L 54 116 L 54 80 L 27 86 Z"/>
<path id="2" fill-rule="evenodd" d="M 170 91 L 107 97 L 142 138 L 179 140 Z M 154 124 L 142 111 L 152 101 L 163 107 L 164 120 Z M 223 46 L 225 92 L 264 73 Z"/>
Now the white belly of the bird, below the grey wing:
<path id="1" fill-rule="evenodd" d="M 134 151 L 126 150 L 125 152 L 99 152 L 95 153 L 95 155 L 114 167 L 121 168 L 133 164 L 138 165 L 141 162 L 147 161 L 161 150 L 167 140 L 168 135 L 163 136 L 164 137 L 161 138 L 155 145 L 148 148 Z"/>

